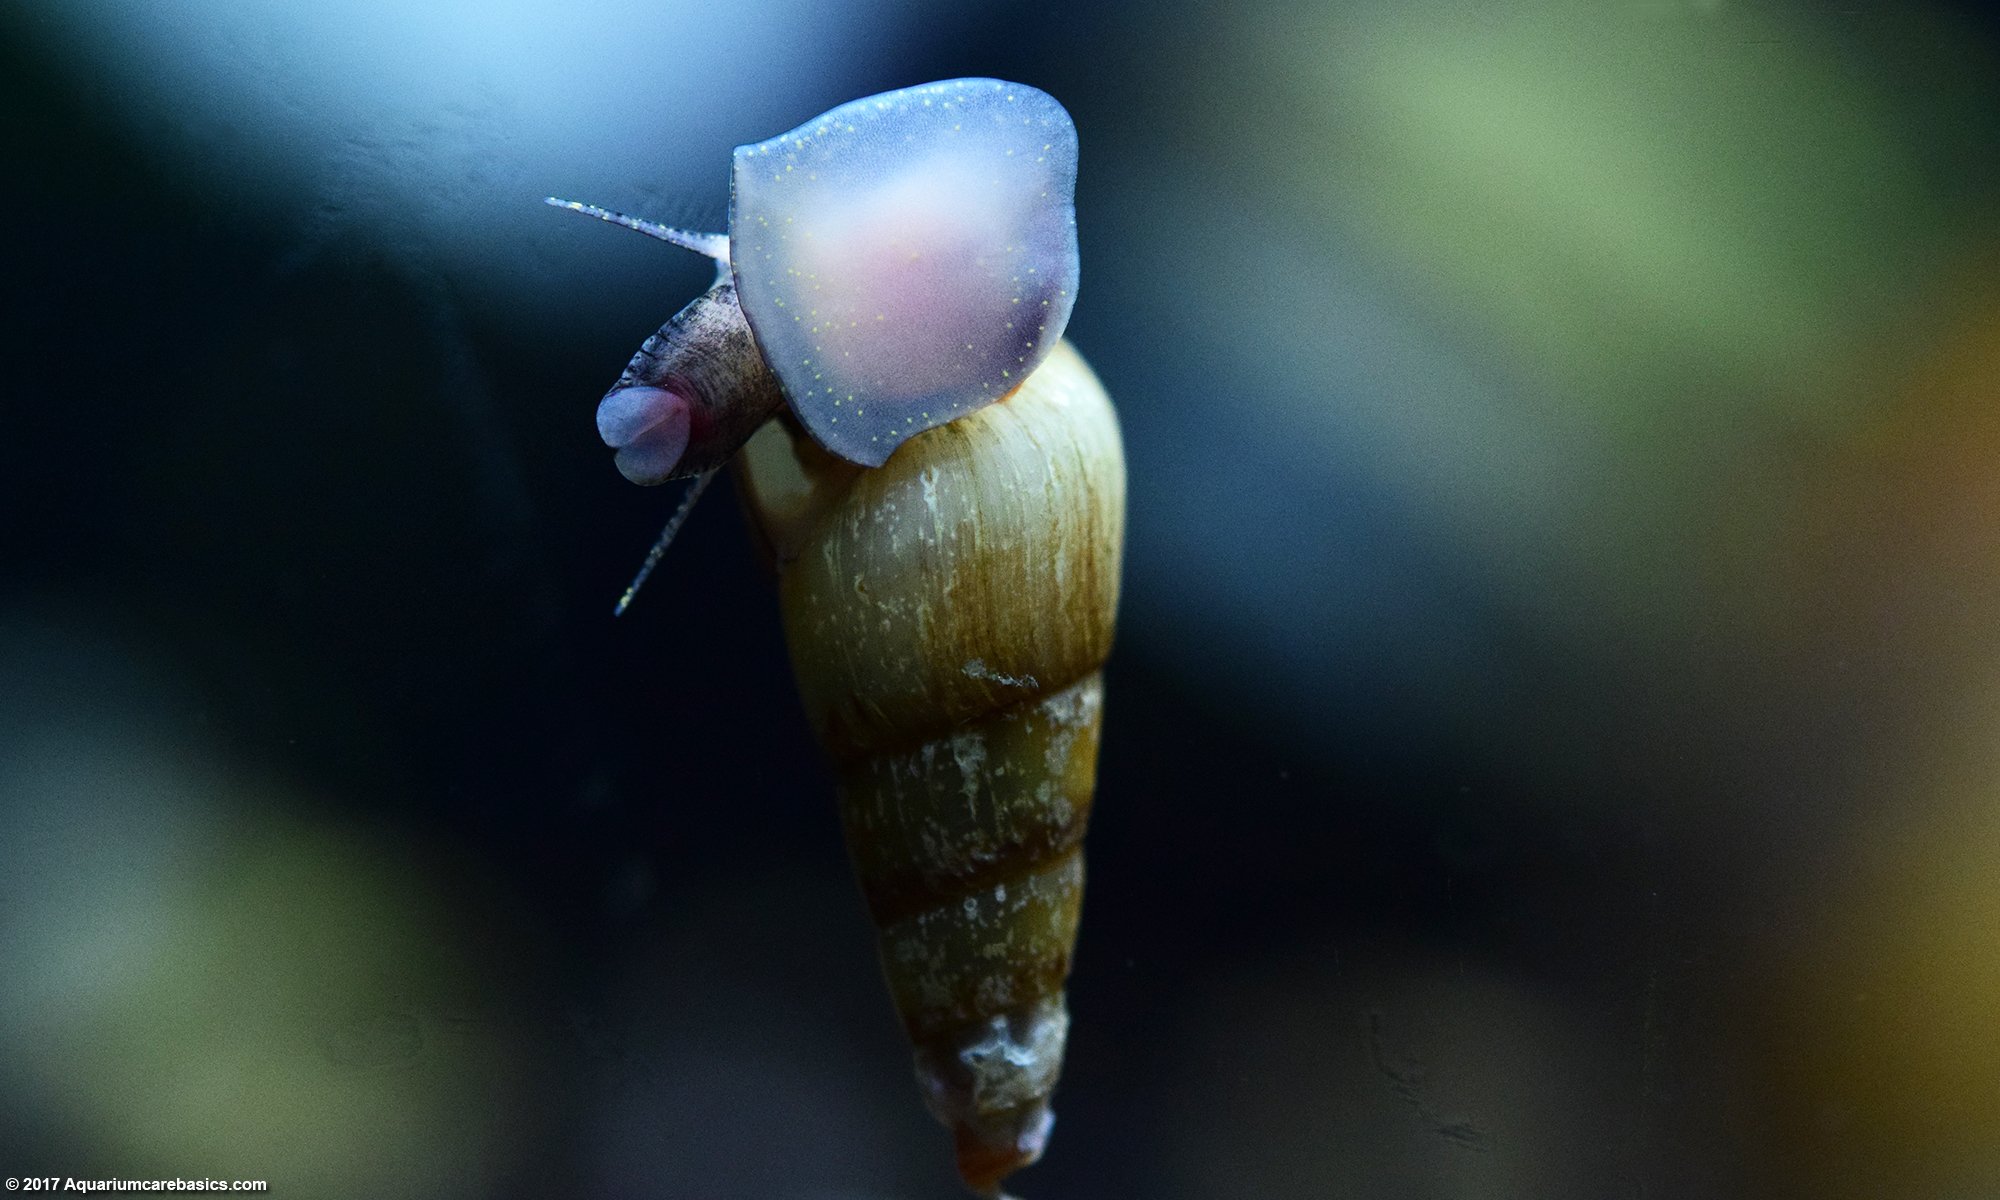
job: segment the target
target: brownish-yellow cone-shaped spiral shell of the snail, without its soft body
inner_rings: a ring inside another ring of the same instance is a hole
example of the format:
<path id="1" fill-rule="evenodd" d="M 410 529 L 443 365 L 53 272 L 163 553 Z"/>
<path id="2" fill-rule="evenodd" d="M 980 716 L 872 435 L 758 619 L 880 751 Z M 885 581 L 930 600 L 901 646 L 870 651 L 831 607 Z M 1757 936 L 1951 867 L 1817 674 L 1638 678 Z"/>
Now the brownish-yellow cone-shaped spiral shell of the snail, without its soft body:
<path id="1" fill-rule="evenodd" d="M 740 486 L 840 776 L 924 1096 L 976 1192 L 1034 1162 L 1068 1032 L 1124 450 L 1066 342 L 862 470 L 772 422 Z"/>

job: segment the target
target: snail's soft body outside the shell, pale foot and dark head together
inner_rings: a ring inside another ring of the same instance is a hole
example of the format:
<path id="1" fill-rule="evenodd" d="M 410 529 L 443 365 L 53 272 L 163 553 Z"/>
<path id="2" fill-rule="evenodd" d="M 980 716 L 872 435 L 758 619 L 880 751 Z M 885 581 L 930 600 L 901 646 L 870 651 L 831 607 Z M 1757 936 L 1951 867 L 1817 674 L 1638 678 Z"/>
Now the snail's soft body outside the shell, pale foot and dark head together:
<path id="1" fill-rule="evenodd" d="M 1074 196 L 1070 114 L 1002 80 L 884 92 L 738 146 L 726 236 L 550 196 L 720 268 L 598 402 L 618 470 L 714 470 L 780 404 L 824 448 L 882 466 L 992 404 L 1070 320 Z"/>

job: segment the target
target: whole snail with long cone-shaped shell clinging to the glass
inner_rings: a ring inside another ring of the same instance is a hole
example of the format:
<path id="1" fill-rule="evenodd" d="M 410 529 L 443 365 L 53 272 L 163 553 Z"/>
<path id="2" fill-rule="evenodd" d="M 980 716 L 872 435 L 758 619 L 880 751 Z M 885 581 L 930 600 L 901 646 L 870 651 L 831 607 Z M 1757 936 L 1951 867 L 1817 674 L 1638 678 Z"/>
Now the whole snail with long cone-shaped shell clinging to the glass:
<path id="1" fill-rule="evenodd" d="M 992 1196 L 1052 1120 L 1124 540 L 1060 342 L 1074 182 L 1056 100 L 952 80 L 738 148 L 726 238 L 556 202 L 722 266 L 598 430 L 642 484 L 738 464 L 918 1082 Z"/>

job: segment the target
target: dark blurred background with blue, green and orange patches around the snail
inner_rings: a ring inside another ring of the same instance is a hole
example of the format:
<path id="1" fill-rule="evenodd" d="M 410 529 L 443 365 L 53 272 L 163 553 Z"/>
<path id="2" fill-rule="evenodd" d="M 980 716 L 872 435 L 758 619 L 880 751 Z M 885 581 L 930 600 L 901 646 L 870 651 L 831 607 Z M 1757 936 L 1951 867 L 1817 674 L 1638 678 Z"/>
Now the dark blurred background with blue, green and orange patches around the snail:
<path id="1" fill-rule="evenodd" d="M 1082 136 L 1130 546 L 1060 1198 L 2000 1194 L 1972 4 L 0 12 L 0 1170 L 956 1194 L 726 488 L 728 152 Z"/>

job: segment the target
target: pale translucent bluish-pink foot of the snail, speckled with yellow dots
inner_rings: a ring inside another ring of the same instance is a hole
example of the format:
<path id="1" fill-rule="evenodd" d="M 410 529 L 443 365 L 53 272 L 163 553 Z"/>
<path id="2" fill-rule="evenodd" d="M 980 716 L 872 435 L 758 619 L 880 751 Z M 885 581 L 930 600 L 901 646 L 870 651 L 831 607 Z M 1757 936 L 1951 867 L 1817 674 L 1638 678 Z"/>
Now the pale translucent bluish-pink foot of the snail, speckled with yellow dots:
<path id="1" fill-rule="evenodd" d="M 880 466 L 1014 390 L 1076 302 L 1076 126 L 1046 92 L 950 80 L 738 146 L 730 260 L 800 422 Z"/>

